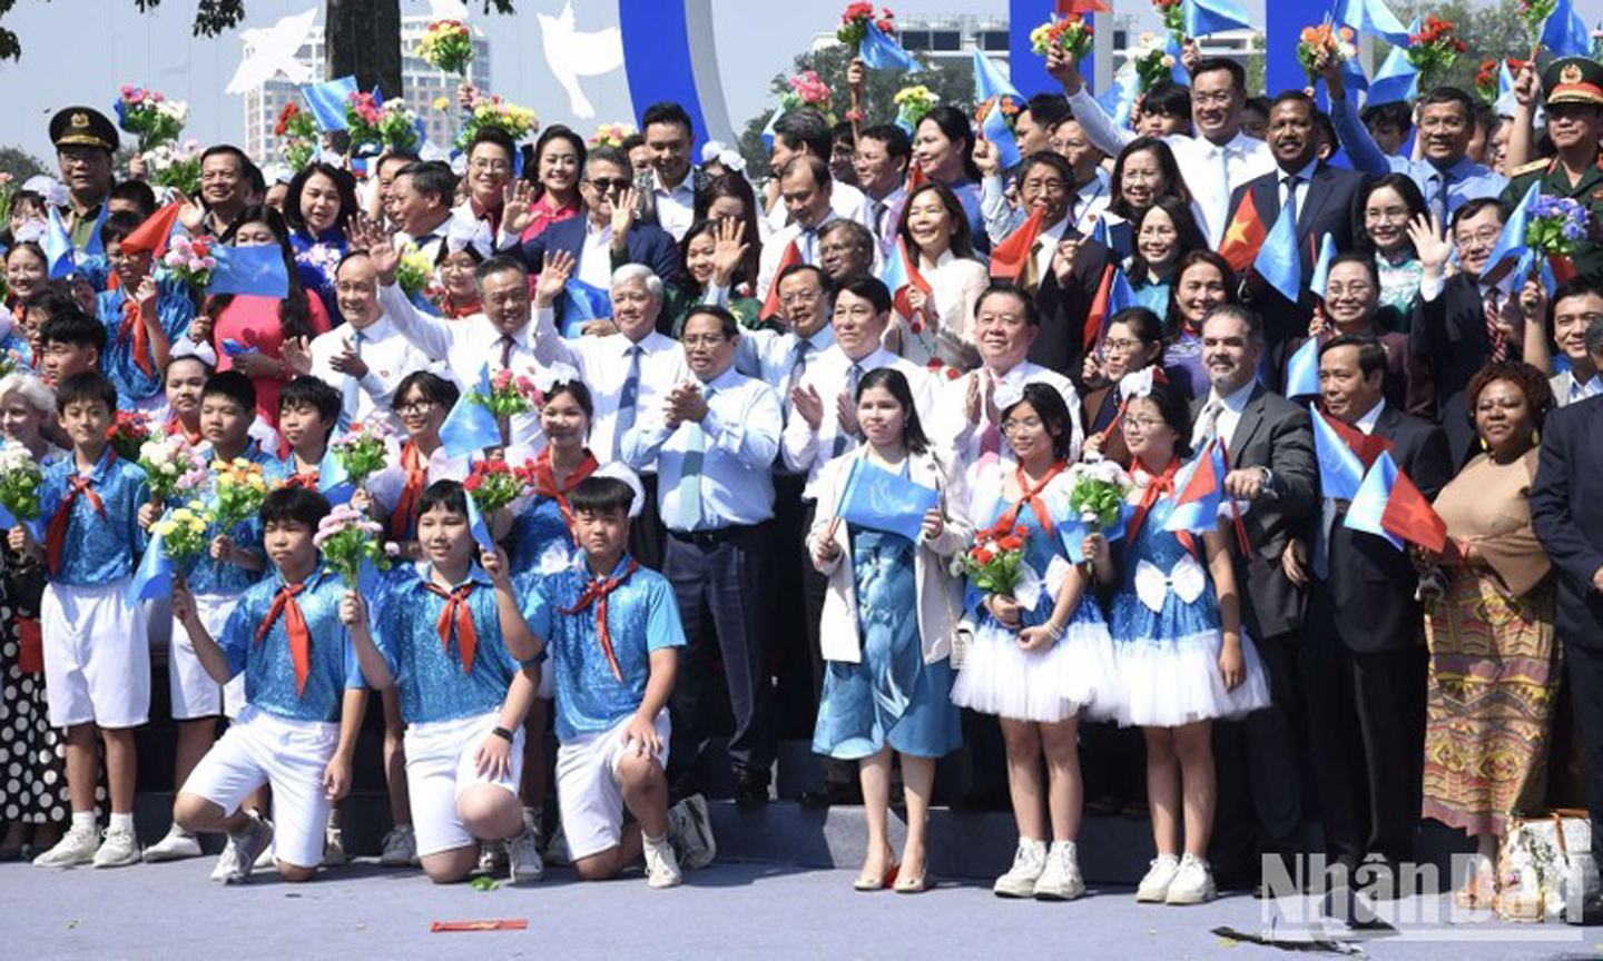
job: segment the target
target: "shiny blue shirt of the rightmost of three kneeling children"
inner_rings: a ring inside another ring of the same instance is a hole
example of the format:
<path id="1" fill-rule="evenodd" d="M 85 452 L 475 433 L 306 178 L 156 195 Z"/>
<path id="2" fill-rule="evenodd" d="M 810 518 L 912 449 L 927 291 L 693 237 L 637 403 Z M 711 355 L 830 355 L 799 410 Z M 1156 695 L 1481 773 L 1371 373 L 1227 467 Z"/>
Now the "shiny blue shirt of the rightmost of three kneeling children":
<path id="1" fill-rule="evenodd" d="M 612 577 L 628 569 L 625 554 Z M 592 581 L 583 557 L 556 573 L 531 573 L 526 591 L 534 601 L 529 628 L 545 641 L 547 660 L 556 690 L 556 737 L 572 740 L 600 734 L 640 710 L 651 679 L 651 652 L 683 647 L 684 628 L 673 588 L 656 570 L 641 567 L 608 596 L 608 634 L 622 679 L 612 674 L 596 634 L 596 602 L 577 613 L 563 613 L 579 604 Z"/>

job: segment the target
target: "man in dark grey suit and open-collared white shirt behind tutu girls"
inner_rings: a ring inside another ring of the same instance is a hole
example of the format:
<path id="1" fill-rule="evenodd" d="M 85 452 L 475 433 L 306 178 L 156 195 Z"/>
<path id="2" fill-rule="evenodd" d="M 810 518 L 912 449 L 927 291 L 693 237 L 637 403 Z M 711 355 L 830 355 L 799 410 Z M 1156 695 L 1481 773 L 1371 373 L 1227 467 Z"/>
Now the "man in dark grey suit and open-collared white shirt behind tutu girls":
<path id="1" fill-rule="evenodd" d="M 1193 448 L 1225 444 L 1225 490 L 1246 501 L 1247 543 L 1231 551 L 1246 604 L 1242 625 L 1268 671 L 1271 703 L 1239 722 L 1213 726 L 1218 817 L 1209 860 L 1223 881 L 1252 884 L 1263 855 L 1295 850 L 1302 788 L 1292 718 L 1297 710 L 1295 637 L 1303 594 L 1281 554 L 1318 516 L 1318 468 L 1308 412 L 1257 381 L 1263 320 L 1239 306 L 1202 324 L 1202 364 L 1212 388 L 1191 405 Z M 1234 525 L 1231 525 L 1234 527 Z M 1231 540 L 1236 540 L 1231 533 Z"/>

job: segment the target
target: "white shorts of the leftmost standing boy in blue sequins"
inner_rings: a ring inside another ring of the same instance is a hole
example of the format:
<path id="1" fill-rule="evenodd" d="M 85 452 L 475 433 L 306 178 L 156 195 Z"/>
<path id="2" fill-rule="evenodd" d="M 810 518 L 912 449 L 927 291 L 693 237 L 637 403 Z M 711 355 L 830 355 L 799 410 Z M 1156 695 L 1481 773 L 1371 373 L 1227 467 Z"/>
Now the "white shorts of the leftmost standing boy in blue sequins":
<path id="1" fill-rule="evenodd" d="M 45 586 L 38 620 L 51 727 L 138 727 L 149 719 L 151 642 L 144 607 L 128 604 L 130 580 Z"/>

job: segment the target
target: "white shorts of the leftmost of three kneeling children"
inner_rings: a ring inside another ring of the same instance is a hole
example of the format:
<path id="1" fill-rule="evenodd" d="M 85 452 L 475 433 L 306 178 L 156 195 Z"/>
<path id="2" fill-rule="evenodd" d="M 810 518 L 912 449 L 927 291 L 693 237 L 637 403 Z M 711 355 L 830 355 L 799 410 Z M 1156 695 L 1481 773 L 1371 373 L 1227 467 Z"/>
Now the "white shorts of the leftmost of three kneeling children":
<path id="1" fill-rule="evenodd" d="M 271 785 L 273 850 L 281 862 L 316 868 L 329 825 L 322 772 L 338 745 L 333 721 L 290 721 L 247 706 L 196 766 L 183 793 L 234 814 L 252 791 Z"/>

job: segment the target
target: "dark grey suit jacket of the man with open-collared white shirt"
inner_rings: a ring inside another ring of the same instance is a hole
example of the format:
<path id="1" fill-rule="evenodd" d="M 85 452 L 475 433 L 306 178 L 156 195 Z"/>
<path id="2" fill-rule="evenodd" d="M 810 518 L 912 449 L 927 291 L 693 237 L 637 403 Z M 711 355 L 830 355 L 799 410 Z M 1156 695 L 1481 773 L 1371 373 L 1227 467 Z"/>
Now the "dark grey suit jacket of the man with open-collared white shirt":
<path id="1" fill-rule="evenodd" d="M 1207 397 L 1191 404 L 1191 416 L 1202 415 Z M 1286 577 L 1281 554 L 1287 541 L 1308 540 L 1310 519 L 1319 516 L 1319 469 L 1313 455 L 1313 421 L 1308 412 L 1263 384 L 1252 389 L 1236 421 L 1236 432 L 1225 439 L 1230 466 L 1268 468 L 1270 487 L 1241 522 L 1247 532 L 1246 553 L 1231 551 L 1236 580 L 1249 604 L 1242 623 L 1249 636 L 1287 634 L 1302 625 L 1303 593 Z M 1234 540 L 1231 525 L 1231 540 Z"/>

